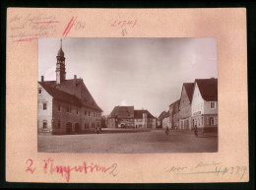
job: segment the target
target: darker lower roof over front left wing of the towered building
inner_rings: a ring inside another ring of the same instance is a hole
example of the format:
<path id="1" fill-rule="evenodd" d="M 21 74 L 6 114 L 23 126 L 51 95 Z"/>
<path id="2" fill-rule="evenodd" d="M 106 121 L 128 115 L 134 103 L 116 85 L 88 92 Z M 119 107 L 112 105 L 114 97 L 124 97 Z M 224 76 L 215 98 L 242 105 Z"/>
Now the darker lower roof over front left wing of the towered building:
<path id="1" fill-rule="evenodd" d="M 59 99 L 64 102 L 69 102 L 75 105 L 81 105 L 79 99 L 75 95 L 70 95 L 58 89 L 54 89 L 50 86 L 45 85 L 44 83 L 39 82 L 41 87 L 53 98 Z"/>

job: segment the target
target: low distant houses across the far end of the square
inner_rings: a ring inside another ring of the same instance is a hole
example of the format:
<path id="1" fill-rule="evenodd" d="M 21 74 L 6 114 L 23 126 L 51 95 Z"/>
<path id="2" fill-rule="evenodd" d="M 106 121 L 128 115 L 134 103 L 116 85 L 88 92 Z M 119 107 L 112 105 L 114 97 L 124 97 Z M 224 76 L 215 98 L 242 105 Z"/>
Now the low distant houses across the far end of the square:
<path id="1" fill-rule="evenodd" d="M 157 127 L 157 118 L 147 109 L 135 110 L 134 106 L 115 106 L 106 120 L 107 128 Z"/>

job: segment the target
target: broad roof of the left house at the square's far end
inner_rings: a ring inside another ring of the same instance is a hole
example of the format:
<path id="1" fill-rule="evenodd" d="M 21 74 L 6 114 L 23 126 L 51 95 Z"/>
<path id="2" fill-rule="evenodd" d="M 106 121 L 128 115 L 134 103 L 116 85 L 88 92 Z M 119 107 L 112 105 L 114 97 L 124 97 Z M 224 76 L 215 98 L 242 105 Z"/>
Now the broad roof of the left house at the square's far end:
<path id="1" fill-rule="evenodd" d="M 115 106 L 109 118 L 134 118 L 134 106 Z"/>

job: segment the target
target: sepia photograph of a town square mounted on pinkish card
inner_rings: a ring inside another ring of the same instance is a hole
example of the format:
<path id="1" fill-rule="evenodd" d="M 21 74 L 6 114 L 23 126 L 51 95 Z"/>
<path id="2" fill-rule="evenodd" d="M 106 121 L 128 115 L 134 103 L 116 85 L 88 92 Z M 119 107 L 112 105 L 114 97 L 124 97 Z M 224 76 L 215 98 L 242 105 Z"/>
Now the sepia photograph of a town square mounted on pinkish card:
<path id="1" fill-rule="evenodd" d="M 218 152 L 217 39 L 39 38 L 37 151 Z"/>

